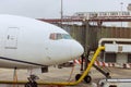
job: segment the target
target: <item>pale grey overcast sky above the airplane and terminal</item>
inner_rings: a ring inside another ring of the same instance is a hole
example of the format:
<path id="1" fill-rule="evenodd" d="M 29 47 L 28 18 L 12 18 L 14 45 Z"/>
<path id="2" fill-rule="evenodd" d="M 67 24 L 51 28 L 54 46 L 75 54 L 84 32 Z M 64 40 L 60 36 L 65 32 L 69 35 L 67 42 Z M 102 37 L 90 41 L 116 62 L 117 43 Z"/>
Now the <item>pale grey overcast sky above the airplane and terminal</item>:
<path id="1" fill-rule="evenodd" d="M 123 3 L 122 5 L 120 3 Z M 96 11 L 127 11 L 131 0 L 63 0 L 63 14 Z M 0 14 L 34 18 L 60 17 L 61 0 L 0 0 Z"/>

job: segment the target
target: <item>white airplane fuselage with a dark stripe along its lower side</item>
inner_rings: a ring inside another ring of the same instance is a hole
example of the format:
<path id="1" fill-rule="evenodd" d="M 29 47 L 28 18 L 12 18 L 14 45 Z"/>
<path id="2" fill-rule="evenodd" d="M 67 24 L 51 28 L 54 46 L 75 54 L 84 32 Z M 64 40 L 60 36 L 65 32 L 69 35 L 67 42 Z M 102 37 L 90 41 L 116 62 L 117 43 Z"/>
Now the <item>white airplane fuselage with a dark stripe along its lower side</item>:
<path id="1" fill-rule="evenodd" d="M 0 15 L 0 67 L 36 67 L 79 58 L 83 47 L 55 25 Z"/>

